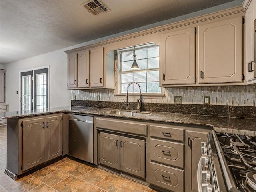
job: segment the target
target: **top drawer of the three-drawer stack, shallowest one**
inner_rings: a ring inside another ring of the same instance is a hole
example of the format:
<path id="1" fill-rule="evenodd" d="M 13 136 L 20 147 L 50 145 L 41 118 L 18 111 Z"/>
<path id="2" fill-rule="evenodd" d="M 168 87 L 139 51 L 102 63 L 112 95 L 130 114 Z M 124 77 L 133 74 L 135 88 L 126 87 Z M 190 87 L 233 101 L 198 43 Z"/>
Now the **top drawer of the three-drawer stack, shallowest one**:
<path id="1" fill-rule="evenodd" d="M 160 126 L 160 125 L 150 125 L 150 136 L 164 138 L 169 140 L 184 141 L 184 129 Z"/>

